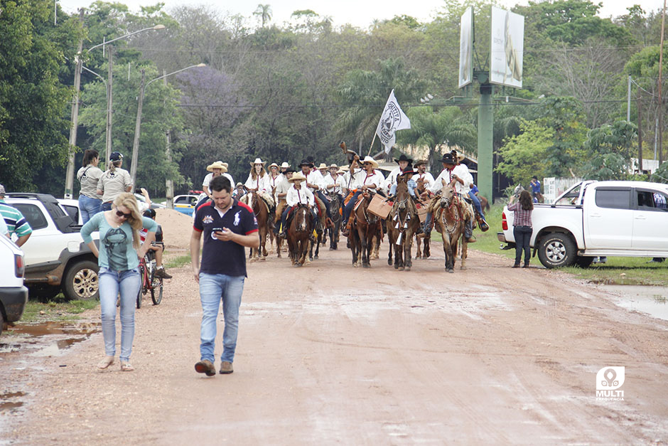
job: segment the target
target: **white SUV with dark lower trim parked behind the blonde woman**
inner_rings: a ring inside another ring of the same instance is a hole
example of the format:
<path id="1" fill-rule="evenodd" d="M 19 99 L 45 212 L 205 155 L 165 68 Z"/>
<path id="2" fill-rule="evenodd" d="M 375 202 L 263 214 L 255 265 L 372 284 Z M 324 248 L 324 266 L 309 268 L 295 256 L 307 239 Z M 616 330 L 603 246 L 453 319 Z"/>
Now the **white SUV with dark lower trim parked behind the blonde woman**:
<path id="1" fill-rule="evenodd" d="M 33 229 L 21 246 L 30 293 L 50 298 L 62 290 L 69 299 L 97 299 L 97 257 L 83 243 L 80 224 L 50 195 L 8 193 L 5 202 Z"/>

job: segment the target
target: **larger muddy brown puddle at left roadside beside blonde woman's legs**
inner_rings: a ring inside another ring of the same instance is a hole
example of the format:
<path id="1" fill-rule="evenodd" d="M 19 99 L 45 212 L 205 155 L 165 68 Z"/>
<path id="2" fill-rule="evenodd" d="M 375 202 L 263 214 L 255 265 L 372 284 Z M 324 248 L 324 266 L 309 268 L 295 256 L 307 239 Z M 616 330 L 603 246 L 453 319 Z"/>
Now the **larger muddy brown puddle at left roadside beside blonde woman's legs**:
<path id="1" fill-rule="evenodd" d="M 99 322 L 76 325 L 63 322 L 16 324 L 2 334 L 0 354 L 21 351 L 31 356 L 58 356 L 70 346 L 85 341 L 98 331 Z"/>

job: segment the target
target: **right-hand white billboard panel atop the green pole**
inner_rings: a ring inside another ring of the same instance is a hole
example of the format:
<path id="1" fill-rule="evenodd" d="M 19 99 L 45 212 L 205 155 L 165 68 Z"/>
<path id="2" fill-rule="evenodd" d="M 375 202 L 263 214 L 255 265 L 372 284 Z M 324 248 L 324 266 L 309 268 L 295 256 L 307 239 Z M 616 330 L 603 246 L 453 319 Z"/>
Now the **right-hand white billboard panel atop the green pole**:
<path id="1" fill-rule="evenodd" d="M 524 16 L 492 6 L 490 83 L 522 88 Z"/>

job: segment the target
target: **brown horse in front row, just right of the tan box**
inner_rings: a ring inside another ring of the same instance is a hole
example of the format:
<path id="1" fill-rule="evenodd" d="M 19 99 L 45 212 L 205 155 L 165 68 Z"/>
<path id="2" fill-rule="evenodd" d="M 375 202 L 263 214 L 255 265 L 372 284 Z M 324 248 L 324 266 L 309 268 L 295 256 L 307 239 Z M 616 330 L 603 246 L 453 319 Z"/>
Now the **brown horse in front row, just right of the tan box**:
<path id="1" fill-rule="evenodd" d="M 397 176 L 397 193 L 394 196 L 392 212 L 389 213 L 387 236 L 389 237 L 389 253 L 387 265 L 392 265 L 392 248 L 394 248 L 394 269 L 410 271 L 411 248 L 413 234 L 420 229 L 417 208 L 406 186 L 406 180 Z"/>

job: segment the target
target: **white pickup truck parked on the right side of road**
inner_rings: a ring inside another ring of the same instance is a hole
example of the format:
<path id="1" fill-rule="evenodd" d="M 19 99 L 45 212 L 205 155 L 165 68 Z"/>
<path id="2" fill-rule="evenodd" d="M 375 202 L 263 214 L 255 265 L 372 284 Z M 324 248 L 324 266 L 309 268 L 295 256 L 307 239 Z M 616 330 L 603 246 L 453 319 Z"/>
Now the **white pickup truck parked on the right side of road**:
<path id="1" fill-rule="evenodd" d="M 591 265 L 597 256 L 668 257 L 668 184 L 582 181 L 552 204 L 534 204 L 531 247 L 548 268 Z M 515 246 L 514 212 L 497 233 Z"/>

